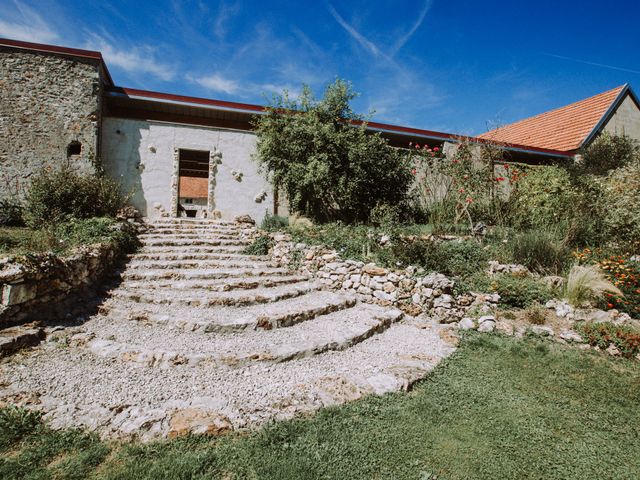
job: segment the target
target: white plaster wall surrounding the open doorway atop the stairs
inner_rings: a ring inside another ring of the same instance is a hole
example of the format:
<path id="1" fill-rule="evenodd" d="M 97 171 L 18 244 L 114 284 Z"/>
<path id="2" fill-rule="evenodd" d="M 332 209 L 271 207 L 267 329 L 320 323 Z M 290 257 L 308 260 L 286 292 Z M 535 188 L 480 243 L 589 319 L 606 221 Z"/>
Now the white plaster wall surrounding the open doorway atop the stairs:
<path id="1" fill-rule="evenodd" d="M 260 222 L 267 211 L 273 213 L 272 188 L 251 158 L 256 149 L 253 133 L 145 120 L 104 120 L 105 170 L 122 182 L 125 191 L 132 194 L 131 203 L 150 218 L 160 214 L 157 206 L 171 211 L 174 148 L 222 152 L 215 179 L 215 209 L 222 218 L 248 214 Z M 242 181 L 233 178 L 234 170 L 243 173 Z M 254 198 L 263 190 L 267 196 L 257 203 Z"/>

